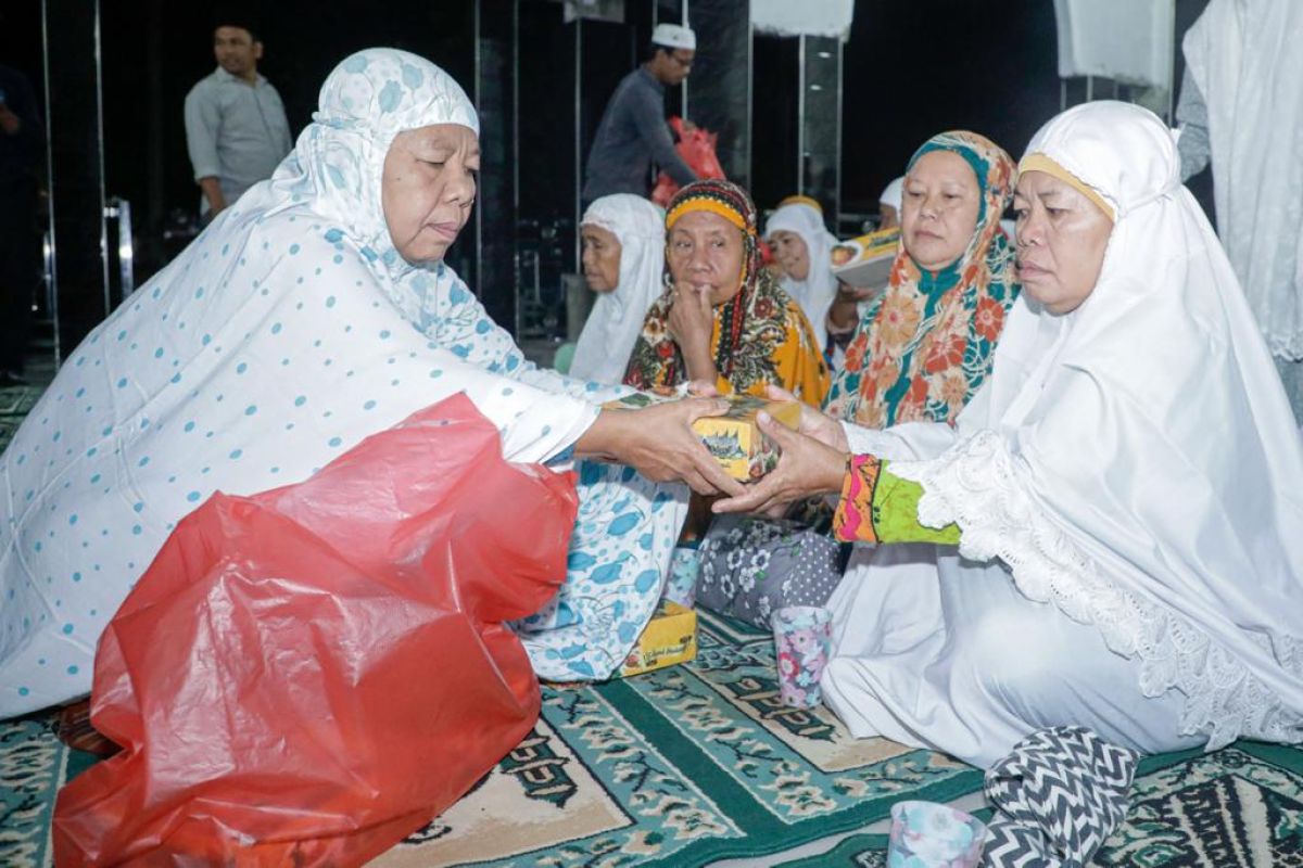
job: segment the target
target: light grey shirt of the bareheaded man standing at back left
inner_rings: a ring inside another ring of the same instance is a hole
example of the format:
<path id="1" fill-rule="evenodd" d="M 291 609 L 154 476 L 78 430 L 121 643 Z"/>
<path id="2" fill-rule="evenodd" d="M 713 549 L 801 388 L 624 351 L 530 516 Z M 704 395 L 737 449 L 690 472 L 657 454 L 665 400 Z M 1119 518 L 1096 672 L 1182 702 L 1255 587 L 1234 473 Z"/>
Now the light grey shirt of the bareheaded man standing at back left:
<path id="1" fill-rule="evenodd" d="M 227 204 L 270 178 L 293 144 L 276 88 L 262 75 L 249 85 L 220 66 L 185 96 L 185 142 L 194 180 L 215 177 Z"/>

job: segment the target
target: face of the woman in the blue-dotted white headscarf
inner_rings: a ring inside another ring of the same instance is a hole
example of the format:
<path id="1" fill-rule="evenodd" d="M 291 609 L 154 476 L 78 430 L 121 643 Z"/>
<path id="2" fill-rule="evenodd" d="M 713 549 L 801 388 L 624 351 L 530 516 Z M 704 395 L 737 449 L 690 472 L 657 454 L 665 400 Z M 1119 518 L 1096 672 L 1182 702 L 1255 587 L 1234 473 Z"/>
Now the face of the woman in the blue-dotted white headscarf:
<path id="1" fill-rule="evenodd" d="M 480 139 L 460 124 L 433 124 L 394 137 L 380 176 L 390 239 L 409 263 L 443 259 L 470 217 Z"/>

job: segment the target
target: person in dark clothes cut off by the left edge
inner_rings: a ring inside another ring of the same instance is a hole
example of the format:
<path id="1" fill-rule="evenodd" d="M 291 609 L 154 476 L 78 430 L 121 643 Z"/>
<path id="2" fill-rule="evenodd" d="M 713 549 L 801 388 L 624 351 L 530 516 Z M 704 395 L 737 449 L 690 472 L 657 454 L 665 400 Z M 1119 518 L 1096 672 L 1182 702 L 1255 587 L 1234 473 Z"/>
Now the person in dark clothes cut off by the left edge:
<path id="1" fill-rule="evenodd" d="M 40 284 L 36 170 L 44 141 L 31 83 L 0 65 L 0 388 L 25 384 L 31 302 Z"/>

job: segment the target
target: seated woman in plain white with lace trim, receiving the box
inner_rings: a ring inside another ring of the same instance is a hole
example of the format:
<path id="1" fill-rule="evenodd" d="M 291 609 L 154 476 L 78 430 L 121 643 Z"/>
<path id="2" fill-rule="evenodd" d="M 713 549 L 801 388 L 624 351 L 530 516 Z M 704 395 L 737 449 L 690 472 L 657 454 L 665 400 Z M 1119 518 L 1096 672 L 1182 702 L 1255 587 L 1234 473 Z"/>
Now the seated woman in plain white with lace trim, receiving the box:
<path id="1" fill-rule="evenodd" d="M 1019 168 L 1024 292 L 958 428 L 808 411 L 721 509 L 839 489 L 839 536 L 878 543 L 829 603 L 826 701 L 859 737 L 982 766 L 1070 724 L 1303 740 L 1303 444 L 1175 143 L 1087 103 Z"/>

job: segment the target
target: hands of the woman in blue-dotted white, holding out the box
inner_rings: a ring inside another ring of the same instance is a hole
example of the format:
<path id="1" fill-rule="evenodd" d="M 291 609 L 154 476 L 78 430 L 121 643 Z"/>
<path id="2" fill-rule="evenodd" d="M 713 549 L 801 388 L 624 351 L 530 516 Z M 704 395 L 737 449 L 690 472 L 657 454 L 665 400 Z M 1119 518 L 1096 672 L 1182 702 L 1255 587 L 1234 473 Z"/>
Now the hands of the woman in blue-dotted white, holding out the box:
<path id="1" fill-rule="evenodd" d="M 688 483 L 698 495 L 744 495 L 692 431 L 701 416 L 718 416 L 728 403 L 718 398 L 684 398 L 641 410 L 603 410 L 580 437 L 576 453 L 635 467 L 653 481 Z"/>

